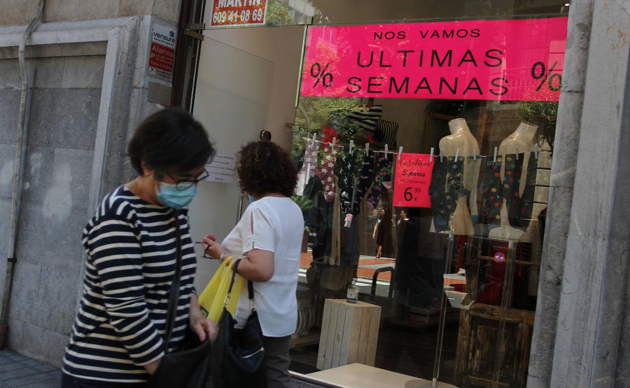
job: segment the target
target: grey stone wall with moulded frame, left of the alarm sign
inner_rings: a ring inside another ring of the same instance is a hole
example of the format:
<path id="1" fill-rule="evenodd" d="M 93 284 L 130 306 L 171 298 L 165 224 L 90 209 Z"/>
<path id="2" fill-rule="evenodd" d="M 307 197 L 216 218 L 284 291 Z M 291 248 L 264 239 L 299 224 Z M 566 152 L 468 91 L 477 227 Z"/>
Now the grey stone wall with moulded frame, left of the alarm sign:
<path id="1" fill-rule="evenodd" d="M 175 16 L 173 16 L 175 17 Z M 82 293 L 83 228 L 132 177 L 127 140 L 147 102 L 151 16 L 45 23 L 30 42 L 30 121 L 8 346 L 60 365 Z M 168 21 L 160 20 L 165 24 Z M 8 249 L 20 70 L 15 28 L 0 28 L 0 252 Z M 64 43 L 67 40 L 70 42 Z M 49 44 L 59 42 L 59 44 Z M 0 260 L 0 289 L 5 260 Z"/>

